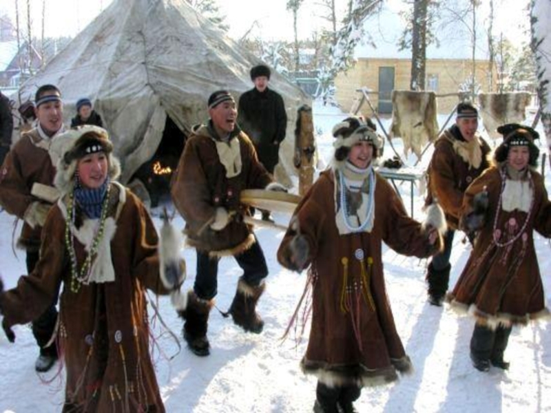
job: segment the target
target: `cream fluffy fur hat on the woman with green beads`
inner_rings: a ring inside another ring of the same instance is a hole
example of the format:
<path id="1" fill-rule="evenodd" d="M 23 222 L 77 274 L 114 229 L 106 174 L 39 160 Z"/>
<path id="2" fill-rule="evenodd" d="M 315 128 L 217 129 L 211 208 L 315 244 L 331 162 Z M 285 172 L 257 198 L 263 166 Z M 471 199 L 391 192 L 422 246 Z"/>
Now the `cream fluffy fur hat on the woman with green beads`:
<path id="1" fill-rule="evenodd" d="M 121 164 L 112 155 L 113 144 L 102 127 L 83 125 L 56 136 L 50 145 L 50 156 L 56 160 L 54 184 L 61 193 L 68 193 L 74 185 L 74 173 L 79 159 L 90 153 L 104 152 L 112 180 L 121 174 Z"/>

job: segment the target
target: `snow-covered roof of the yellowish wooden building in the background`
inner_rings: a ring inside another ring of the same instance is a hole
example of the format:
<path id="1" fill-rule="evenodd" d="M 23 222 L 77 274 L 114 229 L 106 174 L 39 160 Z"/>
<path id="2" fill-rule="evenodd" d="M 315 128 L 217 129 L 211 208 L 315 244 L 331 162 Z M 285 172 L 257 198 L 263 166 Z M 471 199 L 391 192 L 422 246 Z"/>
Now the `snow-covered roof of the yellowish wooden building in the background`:
<path id="1" fill-rule="evenodd" d="M 469 21 L 467 23 L 470 24 Z M 411 59 L 411 50 L 398 50 L 398 41 L 405 27 L 406 21 L 399 16 L 398 10 L 383 6 L 380 14 L 366 19 L 364 23 L 375 47 L 367 43 L 358 45 L 355 58 Z M 466 23 L 442 10 L 435 32 L 439 45 L 431 44 L 427 47 L 427 59 L 472 59 L 471 33 Z M 486 29 L 481 19 L 478 19 L 475 58 L 485 60 L 488 55 Z"/>

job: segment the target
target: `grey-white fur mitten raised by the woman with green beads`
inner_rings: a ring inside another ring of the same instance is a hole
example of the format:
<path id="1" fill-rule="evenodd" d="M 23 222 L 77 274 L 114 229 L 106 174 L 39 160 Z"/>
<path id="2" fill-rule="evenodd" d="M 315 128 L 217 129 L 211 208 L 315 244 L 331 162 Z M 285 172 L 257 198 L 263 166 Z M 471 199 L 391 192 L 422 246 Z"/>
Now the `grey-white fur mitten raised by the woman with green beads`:
<path id="1" fill-rule="evenodd" d="M 168 218 L 163 221 L 159 240 L 160 279 L 168 290 L 178 290 L 186 276 L 185 260 L 180 257 L 183 237 Z"/>

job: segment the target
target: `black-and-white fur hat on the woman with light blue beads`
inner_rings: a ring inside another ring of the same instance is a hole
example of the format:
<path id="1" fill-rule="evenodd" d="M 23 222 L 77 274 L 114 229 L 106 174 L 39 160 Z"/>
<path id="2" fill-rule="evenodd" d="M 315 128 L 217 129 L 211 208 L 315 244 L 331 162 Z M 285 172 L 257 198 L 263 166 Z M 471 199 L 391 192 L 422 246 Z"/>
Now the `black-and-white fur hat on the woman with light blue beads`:
<path id="1" fill-rule="evenodd" d="M 377 135 L 377 127 L 369 118 L 351 116 L 333 127 L 333 138 L 336 138 L 335 160 L 342 161 L 349 156 L 350 148 L 362 140 L 373 145 L 373 158 L 377 158 L 382 149 L 383 140 Z"/>

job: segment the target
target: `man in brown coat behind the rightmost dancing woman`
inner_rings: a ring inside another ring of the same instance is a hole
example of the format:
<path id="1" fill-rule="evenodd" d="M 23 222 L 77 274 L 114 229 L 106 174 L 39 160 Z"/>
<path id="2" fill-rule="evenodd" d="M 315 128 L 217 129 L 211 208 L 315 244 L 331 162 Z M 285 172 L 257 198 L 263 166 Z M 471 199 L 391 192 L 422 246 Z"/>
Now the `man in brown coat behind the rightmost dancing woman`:
<path id="1" fill-rule="evenodd" d="M 459 228 L 463 194 L 470 182 L 490 166 L 490 147 L 477 132 L 478 110 L 469 102 L 457 105 L 455 125 L 444 131 L 435 142 L 435 151 L 428 165 L 426 205 L 438 202 L 446 215 L 448 231 L 444 235 L 444 251 L 433 256 L 428 264 L 428 301 L 441 306 L 450 280 L 450 255 L 453 236 Z M 468 234 L 472 238 L 472 234 Z"/>

